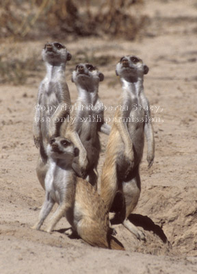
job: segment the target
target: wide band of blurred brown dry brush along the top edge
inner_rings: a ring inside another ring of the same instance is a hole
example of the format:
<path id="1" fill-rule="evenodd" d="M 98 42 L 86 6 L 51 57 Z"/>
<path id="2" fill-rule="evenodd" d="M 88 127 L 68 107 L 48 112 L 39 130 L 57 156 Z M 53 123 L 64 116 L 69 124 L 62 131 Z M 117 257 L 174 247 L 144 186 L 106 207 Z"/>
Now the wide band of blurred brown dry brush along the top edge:
<path id="1" fill-rule="evenodd" d="M 5 0 L 0 4 L 1 37 L 38 38 L 42 33 L 134 39 L 146 21 L 142 8 L 143 0 Z"/>

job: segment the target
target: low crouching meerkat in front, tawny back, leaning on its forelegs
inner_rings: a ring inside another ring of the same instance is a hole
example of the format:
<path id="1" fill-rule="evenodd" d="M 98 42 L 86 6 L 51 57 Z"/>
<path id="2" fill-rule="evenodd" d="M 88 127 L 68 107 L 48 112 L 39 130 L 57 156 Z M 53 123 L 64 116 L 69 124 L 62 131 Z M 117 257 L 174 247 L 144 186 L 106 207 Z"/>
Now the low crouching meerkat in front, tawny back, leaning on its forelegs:
<path id="1" fill-rule="evenodd" d="M 72 169 L 73 158 L 79 153 L 73 143 L 57 137 L 47 146 L 49 169 L 45 178 L 45 201 L 39 221 L 34 229 L 40 229 L 55 202 L 59 207 L 51 217 L 47 232 L 57 221 L 66 216 L 74 231 L 90 245 L 124 250 L 111 236 L 109 214 L 96 190 L 85 180 L 76 177 Z"/>

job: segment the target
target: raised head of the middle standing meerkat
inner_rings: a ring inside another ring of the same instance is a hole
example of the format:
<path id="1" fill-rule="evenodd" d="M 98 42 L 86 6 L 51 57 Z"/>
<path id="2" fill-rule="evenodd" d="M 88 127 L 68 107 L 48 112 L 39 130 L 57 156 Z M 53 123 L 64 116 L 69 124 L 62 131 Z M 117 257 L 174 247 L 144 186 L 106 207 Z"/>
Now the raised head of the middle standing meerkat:
<path id="1" fill-rule="evenodd" d="M 81 86 L 81 88 L 91 90 L 92 88 L 94 89 L 95 86 L 99 86 L 99 82 L 103 81 L 103 79 L 103 73 L 100 73 L 98 69 L 96 69 L 96 66 L 81 63 L 77 64 L 75 71 L 73 71 L 72 82 Z"/>

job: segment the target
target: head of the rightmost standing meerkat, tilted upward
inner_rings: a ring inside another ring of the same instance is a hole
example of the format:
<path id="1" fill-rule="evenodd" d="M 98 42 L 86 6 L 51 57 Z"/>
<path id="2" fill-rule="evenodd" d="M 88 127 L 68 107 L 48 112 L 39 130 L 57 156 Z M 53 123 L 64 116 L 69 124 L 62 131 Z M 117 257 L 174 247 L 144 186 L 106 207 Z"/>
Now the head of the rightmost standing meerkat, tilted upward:
<path id="1" fill-rule="evenodd" d="M 123 56 L 116 65 L 116 75 L 124 79 L 143 78 L 144 74 L 147 74 L 148 71 L 148 66 L 135 55 Z"/>

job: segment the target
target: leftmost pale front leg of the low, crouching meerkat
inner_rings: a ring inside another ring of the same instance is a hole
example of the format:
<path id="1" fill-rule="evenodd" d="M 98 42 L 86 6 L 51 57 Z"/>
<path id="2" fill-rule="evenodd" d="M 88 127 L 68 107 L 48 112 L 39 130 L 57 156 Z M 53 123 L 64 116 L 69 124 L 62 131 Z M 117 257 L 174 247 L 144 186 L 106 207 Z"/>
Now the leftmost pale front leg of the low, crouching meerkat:
<path id="1" fill-rule="evenodd" d="M 42 208 L 40 210 L 40 214 L 39 214 L 39 221 L 31 228 L 33 229 L 37 229 L 39 230 L 42 223 L 44 222 L 44 220 L 47 218 L 47 216 L 49 215 L 49 213 L 51 212 L 53 206 L 54 206 L 55 201 L 53 201 L 53 199 L 51 199 L 50 195 L 46 195 L 46 199 L 42 205 Z"/>

